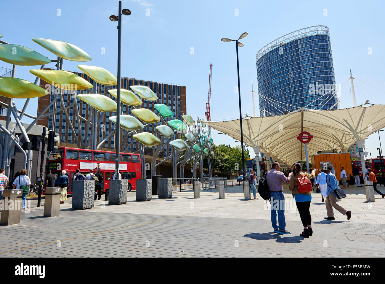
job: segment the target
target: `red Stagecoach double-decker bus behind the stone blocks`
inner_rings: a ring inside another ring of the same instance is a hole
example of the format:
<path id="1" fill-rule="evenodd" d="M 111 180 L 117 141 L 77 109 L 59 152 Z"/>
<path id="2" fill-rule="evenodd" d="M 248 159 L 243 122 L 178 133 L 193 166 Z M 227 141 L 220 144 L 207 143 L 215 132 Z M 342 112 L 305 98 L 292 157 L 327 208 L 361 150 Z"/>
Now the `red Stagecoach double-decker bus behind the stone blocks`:
<path id="1" fill-rule="evenodd" d="M 139 154 L 131 153 L 120 153 L 119 156 L 119 173 L 122 175 L 122 179 L 128 180 L 127 191 L 135 190 L 136 180 L 141 179 L 141 157 Z M 65 170 L 70 179 L 68 194 L 72 194 L 76 169 L 80 169 L 80 173 L 84 175 L 88 174 L 90 169 L 100 169 L 100 173 L 103 175 L 102 192 L 105 192 L 105 189 L 110 187 L 110 179 L 114 177 L 115 158 L 115 152 L 59 147 L 49 153 L 45 174 L 50 169 L 57 180 L 57 177 L 62 175 L 61 171 Z M 59 186 L 56 180 L 55 186 Z"/>

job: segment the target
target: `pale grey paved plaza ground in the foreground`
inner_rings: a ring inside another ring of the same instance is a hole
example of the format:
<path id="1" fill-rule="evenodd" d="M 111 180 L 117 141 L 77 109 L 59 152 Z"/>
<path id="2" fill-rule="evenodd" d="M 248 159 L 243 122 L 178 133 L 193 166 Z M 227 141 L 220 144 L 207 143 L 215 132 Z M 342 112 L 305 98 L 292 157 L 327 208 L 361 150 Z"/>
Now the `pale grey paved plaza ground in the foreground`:
<path id="1" fill-rule="evenodd" d="M 0 227 L 0 257 L 384 257 L 385 199 L 376 194 L 368 203 L 355 186 L 346 193 L 340 204 L 352 211 L 350 221 L 337 211 L 335 221 L 323 220 L 325 204 L 313 194 L 308 239 L 299 236 L 303 227 L 286 188 L 290 235 L 272 233 L 266 201 L 244 200 L 240 186 L 228 187 L 225 199 L 177 191 L 137 202 L 133 191 L 127 204 L 95 201 L 88 210 L 72 210 L 69 198 L 52 218 L 43 217 L 44 200 L 39 208 L 33 200 L 20 224 Z"/>

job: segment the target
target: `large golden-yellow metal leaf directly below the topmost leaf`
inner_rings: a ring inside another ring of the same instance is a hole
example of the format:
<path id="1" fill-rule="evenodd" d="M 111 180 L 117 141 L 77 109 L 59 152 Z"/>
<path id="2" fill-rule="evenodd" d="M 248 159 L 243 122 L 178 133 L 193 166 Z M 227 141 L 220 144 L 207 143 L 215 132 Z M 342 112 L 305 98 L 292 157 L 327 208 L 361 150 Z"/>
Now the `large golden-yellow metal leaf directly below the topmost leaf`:
<path id="1" fill-rule="evenodd" d="M 56 88 L 70 91 L 92 88 L 87 80 L 68 71 L 32 69 L 30 72 L 47 83 L 55 85 Z"/>

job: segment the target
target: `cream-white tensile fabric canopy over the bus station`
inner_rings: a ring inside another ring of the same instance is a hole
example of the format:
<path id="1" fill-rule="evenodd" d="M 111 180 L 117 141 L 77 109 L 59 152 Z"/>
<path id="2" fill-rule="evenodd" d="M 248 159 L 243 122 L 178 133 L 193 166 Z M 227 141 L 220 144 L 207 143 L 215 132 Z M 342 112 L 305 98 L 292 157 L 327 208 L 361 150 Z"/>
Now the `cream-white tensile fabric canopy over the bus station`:
<path id="1" fill-rule="evenodd" d="M 199 122 L 241 141 L 239 119 Z M 305 108 L 273 117 L 244 117 L 242 126 L 243 142 L 254 148 L 256 156 L 262 151 L 267 157 L 293 164 L 306 159 L 304 145 L 297 139 L 304 131 L 313 136 L 307 143 L 309 155 L 332 149 L 347 152 L 355 143 L 358 148 L 364 148 L 365 139 L 385 127 L 385 105 L 360 105 L 341 110 Z"/>

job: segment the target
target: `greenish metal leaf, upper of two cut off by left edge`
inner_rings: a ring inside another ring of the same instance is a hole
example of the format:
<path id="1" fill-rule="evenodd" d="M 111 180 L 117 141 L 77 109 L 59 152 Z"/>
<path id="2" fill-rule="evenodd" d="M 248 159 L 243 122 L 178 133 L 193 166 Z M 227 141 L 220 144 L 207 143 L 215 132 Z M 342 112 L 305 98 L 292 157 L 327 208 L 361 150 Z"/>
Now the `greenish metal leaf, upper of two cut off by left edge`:
<path id="1" fill-rule="evenodd" d="M 0 44 L 0 60 L 21 66 L 33 66 L 51 63 L 51 61 L 25 46 Z"/>

